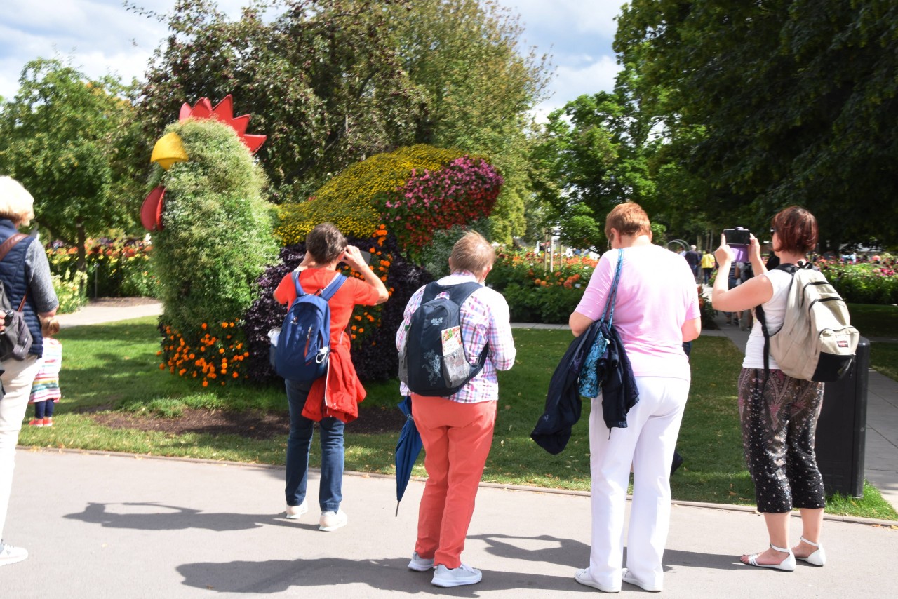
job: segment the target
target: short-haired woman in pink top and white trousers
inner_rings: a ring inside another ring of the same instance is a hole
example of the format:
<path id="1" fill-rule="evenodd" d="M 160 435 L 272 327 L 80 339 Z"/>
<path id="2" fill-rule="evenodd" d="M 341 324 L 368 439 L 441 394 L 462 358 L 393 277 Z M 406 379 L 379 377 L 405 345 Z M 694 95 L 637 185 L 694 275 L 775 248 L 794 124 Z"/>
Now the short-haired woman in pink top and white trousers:
<path id="1" fill-rule="evenodd" d="M 647 591 L 664 586 L 661 559 L 670 524 L 670 471 L 682 412 L 689 394 L 689 359 L 683 341 L 701 332 L 699 297 L 689 264 L 652 245 L 646 212 L 633 202 L 618 205 L 605 219 L 606 252 L 586 287 L 570 328 L 580 336 L 602 316 L 612 286 L 618 250 L 623 248 L 621 281 L 614 308 L 618 330 L 636 377 L 639 401 L 627 427 L 609 430 L 602 395 L 589 416 L 593 543 L 589 568 L 577 570 L 581 585 L 605 593 L 621 590 L 621 580 Z M 629 517 L 627 568 L 623 566 L 624 507 L 630 466 L 633 504 Z"/>

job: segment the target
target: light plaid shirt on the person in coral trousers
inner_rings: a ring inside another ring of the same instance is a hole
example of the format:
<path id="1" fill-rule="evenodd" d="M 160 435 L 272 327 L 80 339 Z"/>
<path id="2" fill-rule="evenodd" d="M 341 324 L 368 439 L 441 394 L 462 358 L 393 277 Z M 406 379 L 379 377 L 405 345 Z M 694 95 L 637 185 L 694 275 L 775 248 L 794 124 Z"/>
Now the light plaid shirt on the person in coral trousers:
<path id="1" fill-rule="evenodd" d="M 439 280 L 440 285 L 458 285 L 459 283 L 476 282 L 477 278 L 470 272 L 456 272 Z M 396 348 L 405 347 L 406 334 L 411 323 L 411 316 L 418 310 L 424 287 L 418 289 L 405 306 L 404 318 L 396 331 Z M 437 297 L 445 297 L 440 294 Z M 509 370 L 515 365 L 515 339 L 511 334 L 511 317 L 505 297 L 489 287 L 482 287 L 468 296 L 462 303 L 462 343 L 468 362 L 476 364 L 480 352 L 489 344 L 489 352 L 483 369 L 458 392 L 447 399 L 459 403 L 478 403 L 480 401 L 497 401 L 499 399 L 499 383 L 497 370 Z M 401 383 L 400 392 L 409 395 L 409 387 Z"/>

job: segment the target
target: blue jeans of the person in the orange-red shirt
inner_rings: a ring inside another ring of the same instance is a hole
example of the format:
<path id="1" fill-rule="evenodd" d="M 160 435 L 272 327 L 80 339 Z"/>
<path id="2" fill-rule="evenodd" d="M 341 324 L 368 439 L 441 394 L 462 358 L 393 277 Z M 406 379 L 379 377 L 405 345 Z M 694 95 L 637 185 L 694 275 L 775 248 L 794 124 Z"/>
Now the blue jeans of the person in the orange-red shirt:
<path id="1" fill-rule="evenodd" d="M 314 420 L 303 416 L 305 398 L 312 383 L 285 381 L 290 407 L 290 436 L 286 441 L 286 505 L 299 506 L 305 500 L 309 480 L 309 450 L 312 448 Z M 336 512 L 343 499 L 343 427 L 337 418 L 322 418 L 321 485 L 318 504 L 322 512 Z"/>

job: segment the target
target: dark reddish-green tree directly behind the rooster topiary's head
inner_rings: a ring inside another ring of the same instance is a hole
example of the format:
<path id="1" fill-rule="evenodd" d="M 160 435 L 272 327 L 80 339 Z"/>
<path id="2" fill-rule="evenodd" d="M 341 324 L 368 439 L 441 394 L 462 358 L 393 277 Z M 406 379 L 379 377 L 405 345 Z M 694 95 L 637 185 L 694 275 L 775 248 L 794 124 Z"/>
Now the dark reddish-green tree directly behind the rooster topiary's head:
<path id="1" fill-rule="evenodd" d="M 233 93 L 251 131 L 268 136 L 257 155 L 277 201 L 304 199 L 349 163 L 411 143 L 422 99 L 387 26 L 398 1 L 251 0 L 231 21 L 213 0 L 179 0 L 143 89 L 146 135 L 184 101 Z"/>

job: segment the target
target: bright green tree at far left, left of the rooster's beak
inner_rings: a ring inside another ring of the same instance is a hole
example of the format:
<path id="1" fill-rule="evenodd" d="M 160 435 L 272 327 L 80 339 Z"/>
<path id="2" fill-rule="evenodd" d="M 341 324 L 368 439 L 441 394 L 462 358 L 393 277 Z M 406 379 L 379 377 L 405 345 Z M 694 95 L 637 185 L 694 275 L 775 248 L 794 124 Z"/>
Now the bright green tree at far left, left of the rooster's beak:
<path id="1" fill-rule="evenodd" d="M 88 236 L 135 223 L 133 117 L 118 79 L 58 59 L 25 65 L 19 92 L 0 104 L 0 172 L 31 192 L 42 227 L 78 248 L 79 269 Z"/>

